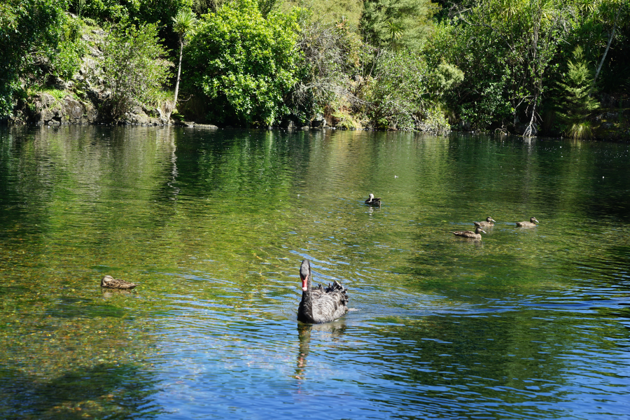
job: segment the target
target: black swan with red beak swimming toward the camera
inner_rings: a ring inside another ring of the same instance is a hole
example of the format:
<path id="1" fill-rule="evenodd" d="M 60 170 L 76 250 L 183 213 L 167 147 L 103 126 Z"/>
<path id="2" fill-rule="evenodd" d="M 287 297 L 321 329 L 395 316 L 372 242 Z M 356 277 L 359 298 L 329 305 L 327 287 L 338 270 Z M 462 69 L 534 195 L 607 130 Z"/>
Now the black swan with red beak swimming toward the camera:
<path id="1" fill-rule="evenodd" d="M 346 288 L 334 281 L 323 288 L 320 285 L 311 287 L 311 262 L 302 260 L 300 279 L 302 279 L 302 300 L 297 307 L 297 321 L 303 323 L 325 323 L 346 314 L 348 311 L 348 295 Z"/>

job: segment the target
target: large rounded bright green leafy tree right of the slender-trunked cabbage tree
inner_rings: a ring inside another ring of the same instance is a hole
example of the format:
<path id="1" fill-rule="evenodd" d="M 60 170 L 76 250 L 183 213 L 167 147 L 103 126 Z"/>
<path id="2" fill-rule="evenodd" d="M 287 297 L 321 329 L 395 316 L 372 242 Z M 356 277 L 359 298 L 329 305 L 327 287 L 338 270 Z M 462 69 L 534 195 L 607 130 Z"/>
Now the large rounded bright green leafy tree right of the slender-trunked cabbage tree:
<path id="1" fill-rule="evenodd" d="M 231 6 L 204 15 L 186 46 L 186 80 L 208 98 L 211 120 L 271 125 L 297 81 L 297 15 L 265 19 L 255 0 Z"/>

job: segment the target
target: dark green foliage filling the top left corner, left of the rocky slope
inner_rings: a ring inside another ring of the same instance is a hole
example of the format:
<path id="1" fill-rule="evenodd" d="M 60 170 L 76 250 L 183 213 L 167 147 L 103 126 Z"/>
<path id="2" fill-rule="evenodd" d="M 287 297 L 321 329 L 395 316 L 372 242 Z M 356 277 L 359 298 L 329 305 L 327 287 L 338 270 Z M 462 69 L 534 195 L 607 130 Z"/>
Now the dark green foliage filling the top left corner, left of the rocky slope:
<path id="1" fill-rule="evenodd" d="M 64 1 L 5 0 L 0 3 L 0 117 L 8 116 L 20 77 L 36 71 L 41 50 L 59 43 Z"/>

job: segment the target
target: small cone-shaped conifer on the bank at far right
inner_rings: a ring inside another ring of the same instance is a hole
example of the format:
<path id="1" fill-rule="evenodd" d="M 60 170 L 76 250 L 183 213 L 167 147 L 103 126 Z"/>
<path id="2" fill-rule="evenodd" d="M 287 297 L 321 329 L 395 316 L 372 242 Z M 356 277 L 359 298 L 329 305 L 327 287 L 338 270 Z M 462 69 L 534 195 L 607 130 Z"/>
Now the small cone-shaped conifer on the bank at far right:
<path id="1" fill-rule="evenodd" d="M 564 132 L 574 138 L 590 137 L 589 125 L 585 121 L 599 103 L 591 97 L 593 72 L 584 59 L 582 48 L 573 50 L 573 60 L 567 64 L 568 70 L 562 81 L 557 82 L 556 118 Z"/>

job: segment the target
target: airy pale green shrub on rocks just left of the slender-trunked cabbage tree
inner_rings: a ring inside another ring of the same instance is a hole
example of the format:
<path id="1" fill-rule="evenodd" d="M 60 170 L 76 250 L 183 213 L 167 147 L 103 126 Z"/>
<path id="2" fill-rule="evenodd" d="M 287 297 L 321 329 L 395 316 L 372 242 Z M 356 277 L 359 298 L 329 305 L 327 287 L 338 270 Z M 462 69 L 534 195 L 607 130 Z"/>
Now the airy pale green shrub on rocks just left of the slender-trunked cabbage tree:
<path id="1" fill-rule="evenodd" d="M 137 104 L 155 104 L 167 80 L 165 53 L 155 25 L 114 25 L 103 51 L 103 76 L 111 97 L 104 111 L 120 118 Z"/>

